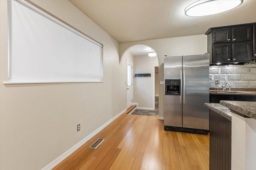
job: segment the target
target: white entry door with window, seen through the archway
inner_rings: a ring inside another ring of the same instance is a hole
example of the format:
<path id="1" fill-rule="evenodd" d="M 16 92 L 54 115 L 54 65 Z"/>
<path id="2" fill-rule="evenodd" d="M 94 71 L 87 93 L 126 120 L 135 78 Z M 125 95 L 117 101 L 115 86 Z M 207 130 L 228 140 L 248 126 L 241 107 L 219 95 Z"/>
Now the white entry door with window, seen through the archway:
<path id="1" fill-rule="evenodd" d="M 132 106 L 132 61 L 126 59 L 127 109 Z"/>

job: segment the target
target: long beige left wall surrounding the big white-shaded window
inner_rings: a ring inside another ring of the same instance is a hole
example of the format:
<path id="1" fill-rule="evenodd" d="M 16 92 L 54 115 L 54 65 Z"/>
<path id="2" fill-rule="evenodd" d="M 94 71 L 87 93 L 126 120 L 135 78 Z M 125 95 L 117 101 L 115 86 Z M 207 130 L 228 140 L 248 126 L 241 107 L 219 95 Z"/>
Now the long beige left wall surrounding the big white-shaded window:
<path id="1" fill-rule="evenodd" d="M 126 109 L 126 73 L 119 64 L 118 42 L 69 1 L 33 2 L 104 45 L 105 82 L 4 85 L 7 1 L 0 0 L 1 170 L 42 169 Z"/>

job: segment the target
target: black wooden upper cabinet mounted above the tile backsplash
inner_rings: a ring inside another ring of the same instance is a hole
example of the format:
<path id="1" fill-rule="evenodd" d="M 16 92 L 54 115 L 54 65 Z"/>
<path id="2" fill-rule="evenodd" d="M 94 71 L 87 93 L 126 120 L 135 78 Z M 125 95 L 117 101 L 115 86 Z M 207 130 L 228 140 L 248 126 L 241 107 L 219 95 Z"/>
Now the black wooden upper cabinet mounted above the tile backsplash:
<path id="1" fill-rule="evenodd" d="M 256 23 L 210 28 L 205 34 L 210 64 L 256 60 Z"/>

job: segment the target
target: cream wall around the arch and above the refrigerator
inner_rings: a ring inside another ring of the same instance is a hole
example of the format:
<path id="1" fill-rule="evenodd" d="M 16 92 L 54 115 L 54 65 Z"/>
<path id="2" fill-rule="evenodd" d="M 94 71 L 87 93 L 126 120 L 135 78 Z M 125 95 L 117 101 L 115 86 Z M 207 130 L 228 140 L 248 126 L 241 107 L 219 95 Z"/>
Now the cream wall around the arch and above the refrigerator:
<path id="1" fill-rule="evenodd" d="M 206 30 L 207 31 L 207 30 Z M 150 46 L 156 51 L 159 63 L 159 81 L 164 80 L 164 55 L 192 55 L 207 53 L 207 36 L 192 35 L 185 37 L 174 37 L 165 39 L 154 39 L 146 41 L 136 41 L 130 43 L 119 44 L 119 60 L 124 52 L 136 44 L 144 44 Z M 164 86 L 159 85 L 159 116 L 164 116 Z"/>

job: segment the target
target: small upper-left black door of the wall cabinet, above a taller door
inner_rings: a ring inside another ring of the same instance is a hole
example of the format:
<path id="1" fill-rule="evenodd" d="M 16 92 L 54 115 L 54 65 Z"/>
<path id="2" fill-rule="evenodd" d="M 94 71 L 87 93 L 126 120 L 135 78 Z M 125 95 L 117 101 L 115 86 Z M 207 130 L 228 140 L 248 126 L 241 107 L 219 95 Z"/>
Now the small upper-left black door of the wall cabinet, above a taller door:
<path id="1" fill-rule="evenodd" d="M 231 28 L 222 28 L 213 30 L 213 43 L 226 43 L 231 39 Z"/>

